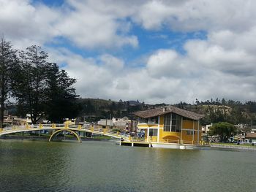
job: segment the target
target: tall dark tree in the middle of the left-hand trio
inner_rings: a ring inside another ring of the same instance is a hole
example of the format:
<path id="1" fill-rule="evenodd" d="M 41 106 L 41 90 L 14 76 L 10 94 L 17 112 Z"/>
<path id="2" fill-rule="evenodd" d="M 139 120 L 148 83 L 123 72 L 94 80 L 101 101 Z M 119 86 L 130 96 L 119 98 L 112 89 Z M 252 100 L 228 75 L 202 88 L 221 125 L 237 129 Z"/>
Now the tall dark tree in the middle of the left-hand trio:
<path id="1" fill-rule="evenodd" d="M 19 55 L 20 70 L 13 86 L 13 96 L 35 124 L 44 115 L 48 101 L 47 71 L 51 64 L 47 61 L 48 54 L 37 45 L 20 51 Z"/>

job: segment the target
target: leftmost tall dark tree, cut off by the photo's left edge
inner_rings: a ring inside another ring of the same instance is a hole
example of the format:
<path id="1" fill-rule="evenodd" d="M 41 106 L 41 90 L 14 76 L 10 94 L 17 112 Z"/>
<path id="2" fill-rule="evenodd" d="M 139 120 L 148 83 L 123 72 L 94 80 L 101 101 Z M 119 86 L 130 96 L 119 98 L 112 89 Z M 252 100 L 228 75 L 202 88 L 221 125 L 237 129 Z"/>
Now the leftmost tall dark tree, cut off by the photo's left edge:
<path id="1" fill-rule="evenodd" d="M 4 123 L 4 104 L 11 93 L 12 80 L 15 77 L 15 67 L 18 64 L 17 50 L 12 49 L 10 42 L 1 38 L 0 42 L 0 128 Z"/>

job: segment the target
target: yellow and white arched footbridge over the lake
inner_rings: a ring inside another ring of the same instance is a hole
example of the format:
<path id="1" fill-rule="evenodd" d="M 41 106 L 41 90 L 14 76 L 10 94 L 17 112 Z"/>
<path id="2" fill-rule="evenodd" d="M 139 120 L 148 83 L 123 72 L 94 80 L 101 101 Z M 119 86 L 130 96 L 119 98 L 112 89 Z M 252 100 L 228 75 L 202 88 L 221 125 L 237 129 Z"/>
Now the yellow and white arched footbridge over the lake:
<path id="1" fill-rule="evenodd" d="M 53 130 L 53 133 L 50 135 L 49 142 L 59 134 L 61 131 L 67 131 L 78 139 L 78 142 L 82 142 L 78 131 L 88 132 L 92 134 L 100 134 L 116 139 L 124 139 L 124 141 L 130 141 L 131 137 L 128 134 L 120 133 L 118 131 L 112 131 L 107 128 L 96 128 L 93 126 L 81 126 L 81 125 L 70 125 L 67 123 L 64 124 L 37 124 L 37 125 L 26 125 L 26 126 L 10 126 L 5 128 L 0 128 L 0 137 L 5 134 L 15 134 L 25 131 L 42 131 L 42 130 Z"/>

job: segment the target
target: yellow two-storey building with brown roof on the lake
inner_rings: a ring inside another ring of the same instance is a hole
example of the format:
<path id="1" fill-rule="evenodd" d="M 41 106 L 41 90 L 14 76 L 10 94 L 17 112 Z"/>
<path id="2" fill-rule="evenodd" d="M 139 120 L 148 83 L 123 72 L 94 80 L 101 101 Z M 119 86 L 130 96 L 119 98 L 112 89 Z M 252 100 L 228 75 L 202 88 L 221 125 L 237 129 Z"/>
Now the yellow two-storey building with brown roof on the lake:
<path id="1" fill-rule="evenodd" d="M 153 110 L 136 112 L 138 129 L 145 131 L 145 142 L 152 147 L 166 147 L 166 144 L 199 145 L 203 115 L 178 107 L 166 106 Z"/>

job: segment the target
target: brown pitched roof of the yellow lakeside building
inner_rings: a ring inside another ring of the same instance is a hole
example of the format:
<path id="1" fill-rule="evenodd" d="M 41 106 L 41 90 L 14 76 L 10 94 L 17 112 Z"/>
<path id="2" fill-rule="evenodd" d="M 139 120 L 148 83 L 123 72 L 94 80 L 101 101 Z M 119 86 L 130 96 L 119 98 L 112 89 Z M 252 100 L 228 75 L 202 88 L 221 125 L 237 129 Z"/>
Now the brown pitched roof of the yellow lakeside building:
<path id="1" fill-rule="evenodd" d="M 181 115 L 185 118 L 189 118 L 192 120 L 200 120 L 201 118 L 204 117 L 204 115 L 200 115 L 198 113 L 190 112 L 187 110 L 182 110 L 182 109 L 180 109 L 178 107 L 174 107 L 172 105 L 168 105 L 165 107 L 159 107 L 159 108 L 152 109 L 152 110 L 135 112 L 135 115 L 137 115 L 140 118 L 152 118 L 152 117 L 156 117 L 159 115 L 164 115 L 169 112 L 174 112 L 178 115 Z"/>

